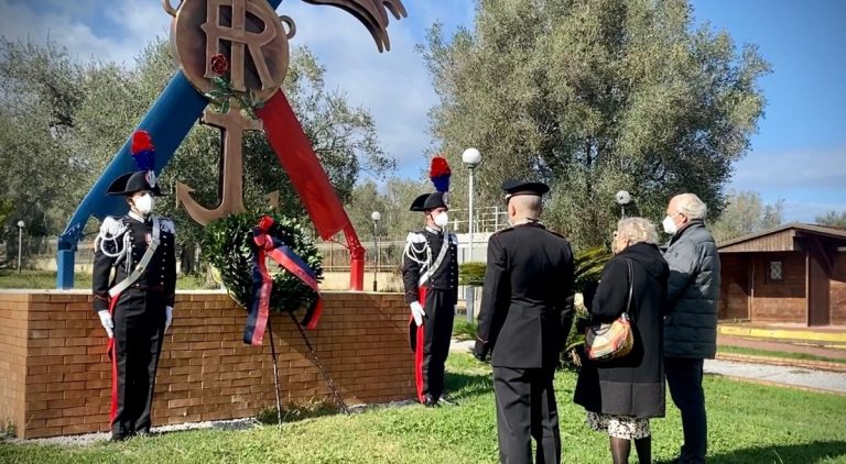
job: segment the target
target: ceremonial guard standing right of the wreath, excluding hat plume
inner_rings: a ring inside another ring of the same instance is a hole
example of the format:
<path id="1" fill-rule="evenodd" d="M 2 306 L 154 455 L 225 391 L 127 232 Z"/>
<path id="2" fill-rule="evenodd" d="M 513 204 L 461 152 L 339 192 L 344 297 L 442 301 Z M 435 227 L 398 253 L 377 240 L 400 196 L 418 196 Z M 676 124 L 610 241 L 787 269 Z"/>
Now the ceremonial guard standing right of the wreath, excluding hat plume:
<path id="1" fill-rule="evenodd" d="M 444 232 L 449 221 L 446 195 L 423 194 L 412 202 L 411 211 L 423 212 L 426 227 L 409 233 L 402 264 L 417 399 L 430 407 L 449 402 L 444 398 L 444 363 L 458 300 L 458 240 Z"/>

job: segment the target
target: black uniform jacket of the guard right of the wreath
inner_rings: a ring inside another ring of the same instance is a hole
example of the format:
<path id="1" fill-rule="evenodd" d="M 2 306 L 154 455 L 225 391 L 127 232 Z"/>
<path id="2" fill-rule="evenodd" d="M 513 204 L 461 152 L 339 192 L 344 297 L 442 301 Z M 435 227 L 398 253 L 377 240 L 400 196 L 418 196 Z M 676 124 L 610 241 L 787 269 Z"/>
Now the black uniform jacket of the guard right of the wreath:
<path id="1" fill-rule="evenodd" d="M 446 237 L 446 240 L 445 240 Z M 420 275 L 425 273 L 427 268 L 421 265 L 419 262 L 426 262 L 426 248 L 431 252 L 431 265 L 437 261 L 437 255 L 441 253 L 441 247 L 446 245 L 449 247 L 446 251 L 446 256 L 441 263 L 441 266 L 426 281 L 426 287 L 435 290 L 447 290 L 455 298 L 458 296 L 458 258 L 456 256 L 458 251 L 458 240 L 454 234 L 443 232 L 435 232 L 430 229 L 423 229 L 409 233 L 406 239 L 409 242 L 409 252 L 414 256 L 412 259 L 409 256 L 403 256 L 402 263 L 402 281 L 405 287 L 405 302 L 411 303 L 417 301 L 420 295 L 417 292 L 417 281 Z M 416 259 L 416 261 L 415 261 Z"/>

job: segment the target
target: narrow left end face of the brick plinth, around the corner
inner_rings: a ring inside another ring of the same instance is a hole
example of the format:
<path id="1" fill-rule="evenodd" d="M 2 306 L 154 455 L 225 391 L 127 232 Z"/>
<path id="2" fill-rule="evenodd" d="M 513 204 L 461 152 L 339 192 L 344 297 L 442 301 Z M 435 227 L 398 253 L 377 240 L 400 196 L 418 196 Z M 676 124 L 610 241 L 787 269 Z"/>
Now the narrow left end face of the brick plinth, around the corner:
<path id="1" fill-rule="evenodd" d="M 0 292 L 0 431 L 24 422 L 29 296 Z"/>

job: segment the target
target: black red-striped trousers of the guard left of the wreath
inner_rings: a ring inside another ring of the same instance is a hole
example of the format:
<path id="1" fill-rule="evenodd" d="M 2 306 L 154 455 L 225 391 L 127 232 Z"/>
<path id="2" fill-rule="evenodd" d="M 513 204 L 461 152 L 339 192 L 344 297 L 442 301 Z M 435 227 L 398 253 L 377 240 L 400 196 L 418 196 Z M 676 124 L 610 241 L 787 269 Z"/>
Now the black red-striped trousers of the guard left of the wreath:
<path id="1" fill-rule="evenodd" d="M 122 439 L 150 431 L 155 371 L 164 339 L 161 291 L 124 290 L 115 307 L 111 434 Z"/>

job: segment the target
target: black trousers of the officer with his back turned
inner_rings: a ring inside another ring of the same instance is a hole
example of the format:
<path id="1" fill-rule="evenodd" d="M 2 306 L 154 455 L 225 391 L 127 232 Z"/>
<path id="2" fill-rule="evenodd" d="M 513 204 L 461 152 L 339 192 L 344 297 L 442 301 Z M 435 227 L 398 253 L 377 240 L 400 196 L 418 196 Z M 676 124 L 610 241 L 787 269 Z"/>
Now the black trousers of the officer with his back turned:
<path id="1" fill-rule="evenodd" d="M 561 462 L 558 411 L 552 379 L 554 368 L 494 367 L 499 460 L 503 464 Z"/>

